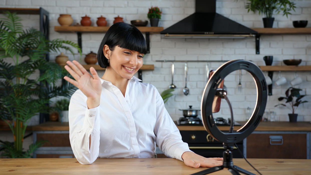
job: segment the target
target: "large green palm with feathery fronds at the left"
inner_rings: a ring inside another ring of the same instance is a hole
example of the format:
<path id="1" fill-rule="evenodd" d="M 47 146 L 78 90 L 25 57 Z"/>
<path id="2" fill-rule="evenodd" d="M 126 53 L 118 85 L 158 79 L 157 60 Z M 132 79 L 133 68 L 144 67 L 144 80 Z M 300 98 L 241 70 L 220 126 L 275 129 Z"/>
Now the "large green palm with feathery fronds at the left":
<path id="1" fill-rule="evenodd" d="M 0 147 L 7 158 L 29 158 L 43 144 L 40 141 L 22 151 L 30 119 L 38 113 L 49 113 L 51 98 L 69 96 L 75 90 L 70 83 L 56 85 L 63 79 L 63 71 L 58 64 L 46 60 L 46 53 L 63 49 L 74 54 L 73 47 L 81 55 L 81 49 L 71 41 L 50 41 L 34 28 L 23 30 L 16 13 L 5 12 L 4 16 L 6 18 L 0 19 L 0 119 L 12 120 L 12 124 L 7 124 L 14 135 L 14 143 L 2 141 Z"/>

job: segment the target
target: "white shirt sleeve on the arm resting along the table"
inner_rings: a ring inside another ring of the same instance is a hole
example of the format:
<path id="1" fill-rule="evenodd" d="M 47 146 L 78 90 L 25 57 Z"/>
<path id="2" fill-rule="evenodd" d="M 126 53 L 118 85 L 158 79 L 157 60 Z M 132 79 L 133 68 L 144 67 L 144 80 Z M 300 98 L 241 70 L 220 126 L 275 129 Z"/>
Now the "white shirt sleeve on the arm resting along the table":
<path id="1" fill-rule="evenodd" d="M 163 99 L 156 91 L 156 144 L 168 157 L 183 161 L 182 154 L 189 150 L 188 144 L 181 139 L 180 132 L 165 109 Z"/>

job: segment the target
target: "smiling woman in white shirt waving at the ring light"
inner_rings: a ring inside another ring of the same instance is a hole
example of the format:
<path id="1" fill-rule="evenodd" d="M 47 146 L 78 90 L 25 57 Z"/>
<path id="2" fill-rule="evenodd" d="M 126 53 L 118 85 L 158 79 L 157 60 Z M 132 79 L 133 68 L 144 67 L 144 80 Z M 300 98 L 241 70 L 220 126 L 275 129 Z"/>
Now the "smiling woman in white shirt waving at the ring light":
<path id="1" fill-rule="evenodd" d="M 165 155 L 191 167 L 222 165 L 222 158 L 204 158 L 189 150 L 153 85 L 133 76 L 147 52 L 142 33 L 133 25 L 116 23 L 105 34 L 97 59 L 106 68 L 100 78 L 77 61 L 65 69 L 77 86 L 69 105 L 69 137 L 81 164 L 100 158 L 152 158 L 156 144 Z"/>

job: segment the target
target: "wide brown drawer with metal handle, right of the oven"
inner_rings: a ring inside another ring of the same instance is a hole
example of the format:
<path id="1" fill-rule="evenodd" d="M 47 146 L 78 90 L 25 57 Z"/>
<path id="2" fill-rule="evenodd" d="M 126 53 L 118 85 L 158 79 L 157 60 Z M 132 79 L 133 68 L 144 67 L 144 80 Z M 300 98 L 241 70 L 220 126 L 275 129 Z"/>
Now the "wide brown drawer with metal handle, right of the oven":
<path id="1" fill-rule="evenodd" d="M 306 134 L 251 134 L 246 142 L 249 159 L 307 159 Z"/>

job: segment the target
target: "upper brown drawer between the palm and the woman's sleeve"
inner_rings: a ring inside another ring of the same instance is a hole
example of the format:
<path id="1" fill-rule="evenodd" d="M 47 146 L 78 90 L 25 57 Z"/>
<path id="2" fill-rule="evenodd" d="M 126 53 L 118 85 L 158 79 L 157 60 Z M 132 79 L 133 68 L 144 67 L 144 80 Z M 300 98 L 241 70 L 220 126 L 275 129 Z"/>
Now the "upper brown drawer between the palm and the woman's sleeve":
<path id="1" fill-rule="evenodd" d="M 42 147 L 70 147 L 69 133 L 37 133 L 37 140 L 48 140 Z"/>

